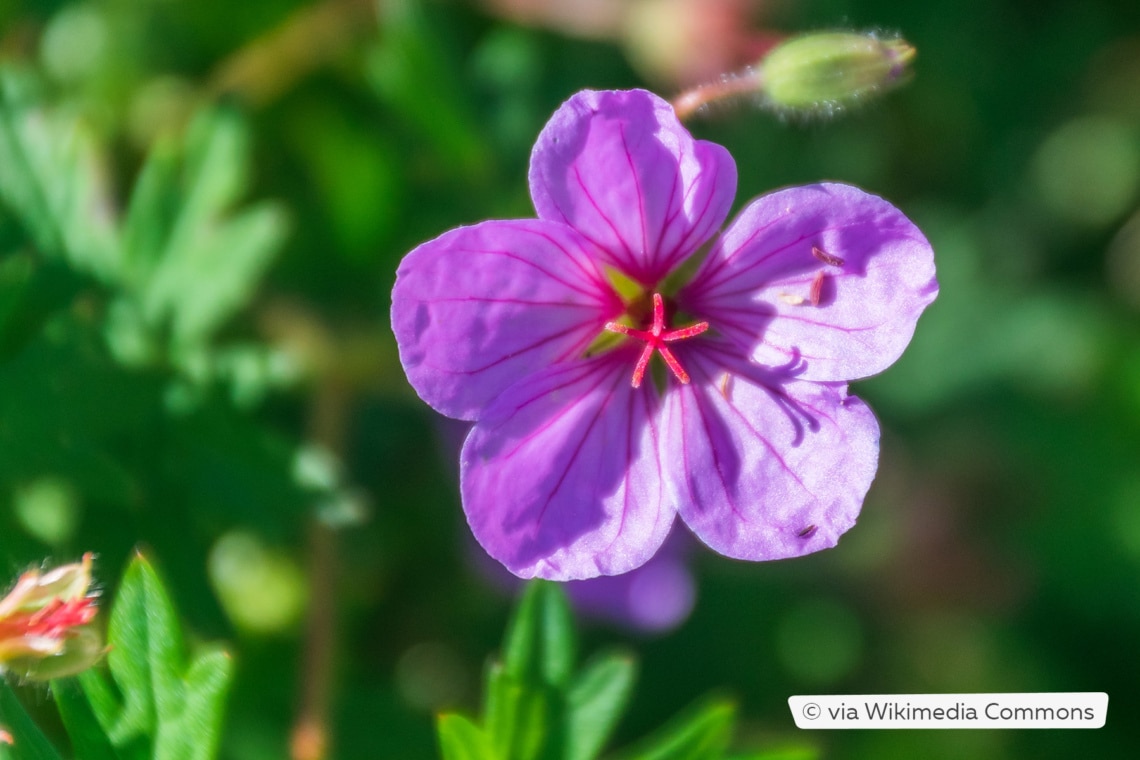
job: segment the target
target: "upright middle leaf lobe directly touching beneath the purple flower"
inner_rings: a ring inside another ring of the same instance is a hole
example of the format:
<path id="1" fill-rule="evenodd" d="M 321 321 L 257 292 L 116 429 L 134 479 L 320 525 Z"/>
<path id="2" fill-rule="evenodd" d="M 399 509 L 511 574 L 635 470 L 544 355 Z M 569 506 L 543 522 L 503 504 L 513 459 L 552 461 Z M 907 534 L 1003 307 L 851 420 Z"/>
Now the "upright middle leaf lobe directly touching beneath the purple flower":
<path id="1" fill-rule="evenodd" d="M 564 688 L 577 647 L 573 615 L 562 589 L 548 581 L 528 583 L 507 628 L 504 670 L 522 684 Z"/>

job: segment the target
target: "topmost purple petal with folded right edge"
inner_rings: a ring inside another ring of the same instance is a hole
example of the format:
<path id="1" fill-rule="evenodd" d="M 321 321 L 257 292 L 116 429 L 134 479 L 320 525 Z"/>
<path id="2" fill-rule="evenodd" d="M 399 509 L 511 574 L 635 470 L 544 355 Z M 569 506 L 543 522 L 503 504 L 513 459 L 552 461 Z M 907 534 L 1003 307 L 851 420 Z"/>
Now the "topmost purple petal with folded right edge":
<path id="1" fill-rule="evenodd" d="M 719 229 L 735 193 L 728 152 L 694 140 L 673 106 L 644 90 L 578 92 L 530 156 L 539 219 L 576 228 L 645 285 Z"/>

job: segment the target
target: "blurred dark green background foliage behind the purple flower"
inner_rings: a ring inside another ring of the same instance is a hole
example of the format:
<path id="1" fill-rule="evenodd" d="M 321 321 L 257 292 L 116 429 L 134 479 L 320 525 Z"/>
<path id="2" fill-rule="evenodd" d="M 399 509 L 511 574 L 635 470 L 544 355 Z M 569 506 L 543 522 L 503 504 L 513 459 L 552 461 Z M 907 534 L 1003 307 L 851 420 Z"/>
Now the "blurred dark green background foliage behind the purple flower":
<path id="1" fill-rule="evenodd" d="M 820 28 L 902 34 L 913 81 L 690 126 L 734 155 L 738 207 L 820 179 L 889 198 L 942 294 L 855 386 L 882 455 L 837 549 L 695 549 L 679 628 L 588 627 L 643 659 L 619 736 L 719 688 L 741 746 L 1137 757 L 1134 0 L 0 0 L 0 577 L 95 550 L 109 596 L 146 547 L 238 663 L 223 757 L 287 755 L 325 635 L 334 755 L 434 757 L 510 599 L 397 361 L 397 263 L 531 215 L 531 142 L 576 90 L 668 97 Z M 785 702 L 1031 690 L 1107 692 L 1108 724 L 804 735 Z"/>

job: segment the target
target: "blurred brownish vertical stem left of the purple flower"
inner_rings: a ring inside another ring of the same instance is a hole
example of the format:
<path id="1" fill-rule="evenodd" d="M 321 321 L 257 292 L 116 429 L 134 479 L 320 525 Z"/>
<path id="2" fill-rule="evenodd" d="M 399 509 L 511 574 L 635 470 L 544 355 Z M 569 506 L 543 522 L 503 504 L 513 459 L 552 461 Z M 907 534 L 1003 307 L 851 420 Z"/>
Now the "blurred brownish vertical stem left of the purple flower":
<path id="1" fill-rule="evenodd" d="M 320 379 L 309 415 L 310 438 L 326 450 L 344 450 L 352 394 L 335 374 Z M 314 515 L 309 526 L 309 619 L 301 664 L 301 694 L 290 743 L 293 760 L 332 757 L 328 730 L 336 661 L 337 579 L 336 528 Z"/>

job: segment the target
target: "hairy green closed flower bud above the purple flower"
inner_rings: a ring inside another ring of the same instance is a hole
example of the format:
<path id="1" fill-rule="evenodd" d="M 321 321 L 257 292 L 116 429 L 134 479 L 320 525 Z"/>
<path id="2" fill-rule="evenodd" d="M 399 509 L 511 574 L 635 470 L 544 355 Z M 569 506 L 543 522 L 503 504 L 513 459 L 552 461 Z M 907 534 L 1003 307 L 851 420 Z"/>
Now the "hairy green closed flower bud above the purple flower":
<path id="1" fill-rule="evenodd" d="M 824 32 L 776 46 L 760 73 L 776 108 L 828 115 L 902 83 L 913 59 L 914 48 L 898 38 Z"/>

